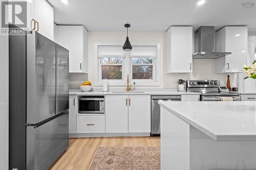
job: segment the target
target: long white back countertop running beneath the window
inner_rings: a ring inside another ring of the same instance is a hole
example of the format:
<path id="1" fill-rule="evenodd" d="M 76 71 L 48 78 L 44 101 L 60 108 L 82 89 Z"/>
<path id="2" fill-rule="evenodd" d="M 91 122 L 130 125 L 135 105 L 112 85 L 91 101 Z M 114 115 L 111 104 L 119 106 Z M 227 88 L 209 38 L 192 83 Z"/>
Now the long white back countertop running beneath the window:
<path id="1" fill-rule="evenodd" d="M 113 91 L 123 91 L 123 89 L 121 90 L 113 90 Z M 177 90 L 173 90 L 173 89 L 163 89 L 163 90 L 156 90 L 156 91 L 145 91 L 143 89 L 138 89 L 136 91 L 138 92 L 118 92 L 118 93 L 114 93 L 113 91 L 108 91 L 108 92 L 102 92 L 102 91 L 88 91 L 88 92 L 83 92 L 80 89 L 70 89 L 69 90 L 69 94 L 70 95 L 106 95 L 106 94 L 112 94 L 112 95 L 118 95 L 118 94 L 141 94 L 141 95 L 192 95 L 192 94 L 198 94 L 200 95 L 201 93 L 198 92 L 190 92 L 190 91 L 177 91 Z M 143 91 L 143 93 L 139 92 L 139 91 Z"/>

